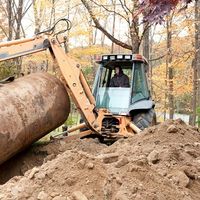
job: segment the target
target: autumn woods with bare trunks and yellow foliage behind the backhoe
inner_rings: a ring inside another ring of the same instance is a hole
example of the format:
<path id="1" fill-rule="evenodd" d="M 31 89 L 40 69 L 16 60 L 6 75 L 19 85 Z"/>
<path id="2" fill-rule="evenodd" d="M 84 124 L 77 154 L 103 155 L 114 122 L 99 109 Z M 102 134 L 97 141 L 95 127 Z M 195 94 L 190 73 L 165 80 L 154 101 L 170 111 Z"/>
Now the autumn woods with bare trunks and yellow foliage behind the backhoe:
<path id="1" fill-rule="evenodd" d="M 90 85 L 95 57 L 141 53 L 149 61 L 149 81 L 157 113 L 200 121 L 200 0 L 178 5 L 158 21 L 146 20 L 138 0 L 0 0 L 0 41 L 33 36 L 68 18 L 69 52 L 82 65 Z M 159 23 L 158 23 L 159 22 Z M 161 22 L 161 23 L 160 23 Z M 47 52 L 0 64 L 0 78 L 36 71 L 56 73 Z"/>

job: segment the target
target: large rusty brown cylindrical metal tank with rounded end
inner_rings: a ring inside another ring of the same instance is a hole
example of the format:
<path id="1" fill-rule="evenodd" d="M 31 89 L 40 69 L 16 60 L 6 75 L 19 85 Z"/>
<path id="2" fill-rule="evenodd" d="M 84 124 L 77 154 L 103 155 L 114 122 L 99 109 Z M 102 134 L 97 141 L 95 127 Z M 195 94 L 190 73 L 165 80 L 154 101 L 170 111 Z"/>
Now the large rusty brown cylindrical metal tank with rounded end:
<path id="1" fill-rule="evenodd" d="M 70 112 L 62 82 L 34 73 L 0 85 L 0 164 L 62 125 Z"/>

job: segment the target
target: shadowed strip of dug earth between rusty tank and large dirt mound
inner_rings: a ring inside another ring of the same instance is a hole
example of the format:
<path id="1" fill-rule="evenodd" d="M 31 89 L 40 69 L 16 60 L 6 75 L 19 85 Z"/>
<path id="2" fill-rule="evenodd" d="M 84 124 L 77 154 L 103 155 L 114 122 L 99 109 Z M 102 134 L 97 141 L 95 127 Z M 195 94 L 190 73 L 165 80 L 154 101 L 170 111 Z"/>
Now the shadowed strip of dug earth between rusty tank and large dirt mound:
<path id="1" fill-rule="evenodd" d="M 37 142 L 26 151 L 23 151 L 11 158 L 4 164 L 0 165 L 0 184 L 6 183 L 14 176 L 23 176 L 26 171 L 33 167 L 41 166 L 44 162 L 54 159 L 58 154 L 66 150 L 75 148 L 83 149 L 84 151 L 96 152 L 103 146 L 102 144 L 93 145 L 97 141 L 85 143 L 83 140 L 73 137 L 74 139 L 55 139 L 51 142 Z"/>

